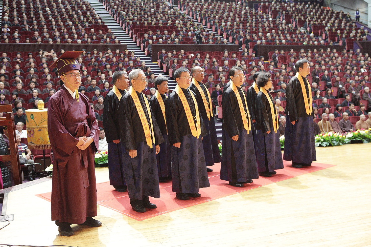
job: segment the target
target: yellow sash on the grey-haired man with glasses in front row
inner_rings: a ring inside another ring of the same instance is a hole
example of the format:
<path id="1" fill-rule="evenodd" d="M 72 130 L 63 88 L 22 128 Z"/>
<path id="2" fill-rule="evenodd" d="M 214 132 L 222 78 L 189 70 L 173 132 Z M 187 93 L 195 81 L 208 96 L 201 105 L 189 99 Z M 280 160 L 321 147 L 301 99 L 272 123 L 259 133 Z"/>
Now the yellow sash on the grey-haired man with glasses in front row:
<path id="1" fill-rule="evenodd" d="M 130 87 L 129 94 L 133 98 L 135 108 L 138 111 L 139 119 L 142 123 L 142 127 L 143 127 L 143 130 L 144 130 L 144 135 L 145 135 L 145 140 L 147 141 L 147 145 L 150 148 L 152 148 L 153 147 L 152 144 L 155 143 L 155 136 L 154 136 L 154 133 L 153 133 L 153 124 L 152 124 L 152 121 L 151 121 L 152 120 L 151 109 L 150 109 L 150 104 L 148 103 L 148 98 L 143 93 L 141 93 L 143 95 L 143 98 L 144 98 L 144 101 L 145 101 L 145 106 L 147 107 L 148 116 L 150 117 L 150 123 L 148 123 L 148 121 L 147 121 L 147 117 L 145 116 L 142 104 L 140 103 L 137 92 L 133 89 L 133 87 Z M 148 125 L 150 125 L 150 127 L 148 127 Z M 152 133 L 152 138 L 151 138 L 151 133 Z"/>

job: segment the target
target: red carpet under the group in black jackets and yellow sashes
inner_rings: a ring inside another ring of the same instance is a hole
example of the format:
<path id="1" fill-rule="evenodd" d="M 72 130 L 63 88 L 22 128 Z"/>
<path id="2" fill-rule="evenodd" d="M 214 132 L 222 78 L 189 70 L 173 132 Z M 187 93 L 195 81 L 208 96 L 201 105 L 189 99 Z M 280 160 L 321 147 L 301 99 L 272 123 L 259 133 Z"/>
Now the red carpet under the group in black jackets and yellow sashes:
<path id="1" fill-rule="evenodd" d="M 227 181 L 219 179 L 220 163 L 217 163 L 212 167 L 213 172 L 208 173 L 210 187 L 200 189 L 201 197 L 191 198 L 187 201 L 178 200 L 175 197 L 175 193 L 172 192 L 171 182 L 160 183 L 161 197 L 150 197 L 151 202 L 156 204 L 157 208 L 147 209 L 146 213 L 137 213 L 132 210 L 129 203 L 128 193 L 120 193 L 113 190 L 114 188 L 109 185 L 109 182 L 97 184 L 97 201 L 99 205 L 111 208 L 112 210 L 132 217 L 135 220 L 145 220 L 147 218 L 175 211 L 180 208 L 190 207 L 193 205 L 204 203 L 206 201 L 215 200 L 217 198 L 229 196 L 246 190 L 251 190 L 253 188 L 261 187 L 267 184 L 272 184 L 278 181 L 297 177 L 302 174 L 312 173 L 314 171 L 319 171 L 334 166 L 330 164 L 313 163 L 313 165 L 310 167 L 297 169 L 291 167 L 291 162 L 289 161 L 284 160 L 283 164 L 285 165 L 285 168 L 277 170 L 276 175 L 272 177 L 260 177 L 259 179 L 255 179 L 253 183 L 245 184 L 244 187 L 238 188 L 230 186 L 228 185 Z M 51 193 L 43 193 L 36 196 L 50 201 Z"/>

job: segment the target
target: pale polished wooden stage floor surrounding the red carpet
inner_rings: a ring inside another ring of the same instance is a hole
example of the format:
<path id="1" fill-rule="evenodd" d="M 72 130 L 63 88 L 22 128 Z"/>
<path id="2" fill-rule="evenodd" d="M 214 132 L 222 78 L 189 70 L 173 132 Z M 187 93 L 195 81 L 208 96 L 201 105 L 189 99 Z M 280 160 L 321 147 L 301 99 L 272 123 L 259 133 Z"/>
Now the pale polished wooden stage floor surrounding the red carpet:
<path id="1" fill-rule="evenodd" d="M 0 244 L 89 247 L 365 247 L 371 246 L 371 143 L 318 147 L 317 161 L 336 166 L 173 211 L 143 221 L 98 205 L 103 226 L 74 225 L 63 237 L 50 203 L 35 194 L 51 181 L 9 193 L 14 221 Z M 96 168 L 97 182 L 108 169 Z M 3 223 L 0 223 L 0 227 Z"/>

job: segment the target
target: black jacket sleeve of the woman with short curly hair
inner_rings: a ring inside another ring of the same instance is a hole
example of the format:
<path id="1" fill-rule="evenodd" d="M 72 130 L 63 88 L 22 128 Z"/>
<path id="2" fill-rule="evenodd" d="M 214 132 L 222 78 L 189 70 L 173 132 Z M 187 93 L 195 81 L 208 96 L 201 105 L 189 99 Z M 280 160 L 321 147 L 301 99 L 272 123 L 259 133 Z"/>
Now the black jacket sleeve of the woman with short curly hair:
<path id="1" fill-rule="evenodd" d="M 265 94 L 259 92 L 256 96 L 256 129 L 262 131 L 270 130 L 270 117 L 267 108 L 270 108 Z M 269 110 L 269 114 L 272 114 Z"/>

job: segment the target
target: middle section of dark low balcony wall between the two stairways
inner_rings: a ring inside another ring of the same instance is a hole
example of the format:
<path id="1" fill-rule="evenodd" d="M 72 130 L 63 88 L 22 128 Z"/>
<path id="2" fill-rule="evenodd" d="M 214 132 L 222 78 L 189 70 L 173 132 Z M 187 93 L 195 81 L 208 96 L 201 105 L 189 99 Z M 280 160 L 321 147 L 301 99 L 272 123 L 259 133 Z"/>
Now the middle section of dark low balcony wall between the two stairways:
<path id="1" fill-rule="evenodd" d="M 239 51 L 237 44 L 152 44 L 152 61 L 157 62 L 159 51 L 166 49 L 166 51 Z"/>

